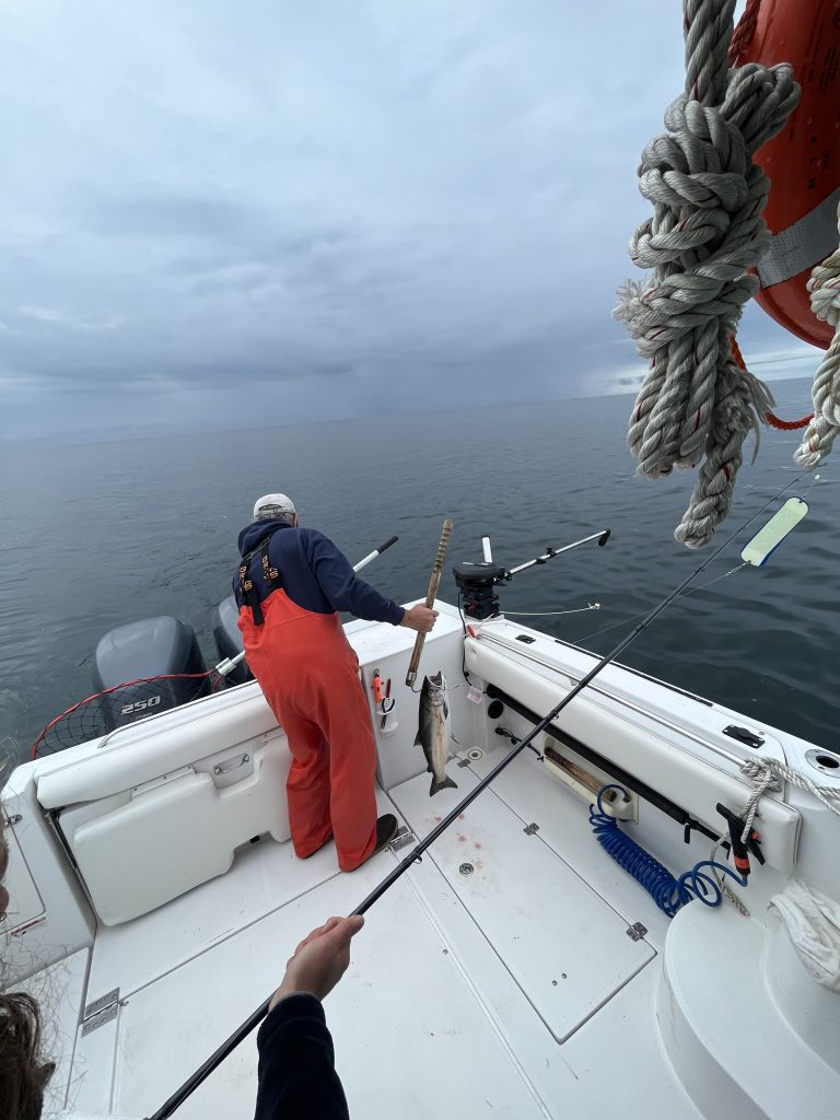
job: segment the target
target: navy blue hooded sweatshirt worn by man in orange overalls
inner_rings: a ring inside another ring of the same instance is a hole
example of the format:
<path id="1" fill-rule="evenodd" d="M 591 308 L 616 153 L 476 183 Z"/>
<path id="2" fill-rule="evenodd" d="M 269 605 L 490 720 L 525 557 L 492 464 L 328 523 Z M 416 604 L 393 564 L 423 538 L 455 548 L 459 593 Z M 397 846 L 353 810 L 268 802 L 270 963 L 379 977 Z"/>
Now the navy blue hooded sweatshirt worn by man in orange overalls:
<path id="1" fill-rule="evenodd" d="M 267 536 L 271 538 L 269 560 L 280 573 L 277 586 L 299 607 L 319 615 L 348 610 L 356 618 L 391 623 L 393 626 L 402 622 L 403 608 L 358 579 L 349 560 L 328 536 L 317 529 L 296 529 L 284 521 L 255 521 L 240 533 L 240 556 L 258 549 L 251 558 L 249 576 L 260 601 L 270 594 L 262 576 L 258 548 Z M 233 590 L 236 605 L 241 607 L 239 570 L 233 577 Z"/>

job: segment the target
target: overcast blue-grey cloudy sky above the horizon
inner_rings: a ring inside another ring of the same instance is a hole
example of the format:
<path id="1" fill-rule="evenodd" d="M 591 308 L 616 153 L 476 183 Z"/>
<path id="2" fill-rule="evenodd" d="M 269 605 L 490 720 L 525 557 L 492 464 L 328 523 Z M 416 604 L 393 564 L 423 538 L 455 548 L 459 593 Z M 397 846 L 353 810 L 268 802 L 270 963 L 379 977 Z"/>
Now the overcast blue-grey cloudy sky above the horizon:
<path id="1" fill-rule="evenodd" d="M 0 439 L 629 391 L 676 0 L 0 0 Z M 809 347 L 754 309 L 766 377 Z"/>

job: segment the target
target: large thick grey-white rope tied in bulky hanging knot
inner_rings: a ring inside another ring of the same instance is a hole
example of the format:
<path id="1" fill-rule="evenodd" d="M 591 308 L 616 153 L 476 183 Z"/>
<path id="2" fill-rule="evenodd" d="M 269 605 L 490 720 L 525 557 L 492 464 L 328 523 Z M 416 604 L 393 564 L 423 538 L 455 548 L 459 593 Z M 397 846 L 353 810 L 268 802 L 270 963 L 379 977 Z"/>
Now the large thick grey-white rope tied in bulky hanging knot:
<path id="1" fill-rule="evenodd" d="M 668 133 L 642 155 L 640 190 L 653 217 L 634 233 L 635 264 L 614 311 L 651 368 L 628 442 L 650 478 L 701 464 L 674 535 L 711 540 L 726 516 L 741 446 L 773 405 L 766 386 L 739 371 L 729 345 L 769 234 L 762 211 L 769 180 L 754 152 L 784 125 L 800 90 L 788 65 L 729 68 L 735 0 L 683 0 L 685 87 L 665 111 Z M 757 441 L 757 439 L 756 439 Z"/>

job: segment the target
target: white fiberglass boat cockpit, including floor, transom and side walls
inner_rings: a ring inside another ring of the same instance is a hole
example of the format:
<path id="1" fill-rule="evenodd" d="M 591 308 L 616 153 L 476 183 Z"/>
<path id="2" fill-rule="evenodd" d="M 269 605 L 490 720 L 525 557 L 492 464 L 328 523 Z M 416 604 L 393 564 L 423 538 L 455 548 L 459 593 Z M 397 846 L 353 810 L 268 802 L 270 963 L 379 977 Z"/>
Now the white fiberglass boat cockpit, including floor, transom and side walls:
<path id="1" fill-rule="evenodd" d="M 458 787 L 433 799 L 418 773 L 417 699 L 401 683 L 411 638 L 348 627 L 365 682 L 374 668 L 396 682 L 390 729 L 371 701 L 377 799 L 418 838 L 592 662 L 504 620 L 465 642 L 457 610 L 440 606 L 426 655 L 452 682 Z M 480 692 L 489 684 L 501 716 Z M 809 744 L 619 666 L 557 722 L 595 783 L 615 767 L 642 783 L 623 831 L 675 875 L 708 859 L 718 802 L 746 803 L 743 759 L 809 765 Z M 589 795 L 557 780 L 543 745 L 496 776 L 354 940 L 326 1000 L 351 1116 L 823 1120 L 840 1100 L 838 997 L 808 974 L 768 903 L 793 876 L 836 897 L 840 821 L 794 786 L 766 795 L 766 865 L 744 892 L 753 917 L 693 902 L 671 921 L 598 844 Z M 298 941 L 353 911 L 411 850 L 351 875 L 332 844 L 298 860 L 288 763 L 259 690 L 243 685 L 12 775 L 18 925 L 7 935 L 47 1009 L 48 1110 L 152 1114 L 272 992 Z M 706 829 L 688 843 L 685 814 Z M 108 997 L 114 1014 L 91 1030 L 91 1005 Z M 255 1093 L 254 1034 L 176 1116 L 248 1120 Z"/>

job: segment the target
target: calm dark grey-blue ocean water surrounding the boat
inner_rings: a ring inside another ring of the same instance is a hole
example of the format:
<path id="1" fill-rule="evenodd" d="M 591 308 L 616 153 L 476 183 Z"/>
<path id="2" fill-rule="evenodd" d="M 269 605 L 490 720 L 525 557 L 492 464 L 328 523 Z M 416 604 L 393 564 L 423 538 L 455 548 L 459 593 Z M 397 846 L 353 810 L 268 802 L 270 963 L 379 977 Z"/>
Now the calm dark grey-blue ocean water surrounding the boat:
<path id="1" fill-rule="evenodd" d="M 777 410 L 801 416 L 808 389 L 774 384 Z M 399 533 L 365 572 L 398 601 L 424 595 L 444 516 L 455 520 L 450 561 L 480 560 L 489 533 L 508 567 L 610 528 L 605 549 L 533 568 L 503 592 L 511 612 L 599 601 L 598 612 L 523 622 L 607 652 L 702 558 L 672 538 L 693 476 L 635 476 L 624 439 L 631 407 L 610 396 L 0 449 L 0 755 L 26 754 L 48 719 L 90 692 L 94 647 L 113 626 L 176 615 L 196 628 L 208 664 L 217 660 L 211 614 L 228 594 L 236 534 L 267 491 L 292 495 L 301 523 L 353 561 Z M 796 444 L 795 433 L 763 433 L 716 541 L 795 477 Z M 811 513 L 766 568 L 678 601 L 623 661 L 837 747 L 837 466 L 791 492 L 808 495 Z M 698 582 L 735 568 L 741 547 Z M 449 570 L 440 595 L 455 601 Z"/>

